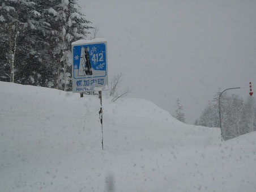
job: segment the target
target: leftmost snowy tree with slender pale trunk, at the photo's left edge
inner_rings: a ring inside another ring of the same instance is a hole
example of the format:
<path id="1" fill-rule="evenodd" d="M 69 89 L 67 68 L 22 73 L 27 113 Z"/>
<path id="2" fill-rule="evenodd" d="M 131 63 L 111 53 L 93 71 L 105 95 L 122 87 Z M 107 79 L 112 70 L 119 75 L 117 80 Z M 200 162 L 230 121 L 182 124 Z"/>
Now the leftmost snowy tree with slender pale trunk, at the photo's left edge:
<path id="1" fill-rule="evenodd" d="M 32 27 L 29 18 L 35 3 L 28 0 L 2 0 L 0 6 L 1 76 L 15 82 L 18 41 L 25 29 Z"/>

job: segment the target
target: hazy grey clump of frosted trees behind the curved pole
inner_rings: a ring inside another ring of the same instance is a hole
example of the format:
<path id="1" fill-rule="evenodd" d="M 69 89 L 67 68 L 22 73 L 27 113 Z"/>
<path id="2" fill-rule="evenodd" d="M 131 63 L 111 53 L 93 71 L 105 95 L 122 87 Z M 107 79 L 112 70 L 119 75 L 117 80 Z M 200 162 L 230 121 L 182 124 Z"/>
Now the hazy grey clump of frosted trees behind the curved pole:
<path id="1" fill-rule="evenodd" d="M 220 127 L 219 125 L 219 95 L 209 101 L 203 110 L 199 125 L 207 127 Z M 249 98 L 246 103 L 238 95 L 228 96 L 224 92 L 220 97 L 221 133 L 224 140 L 249 133 L 254 130 L 255 108 L 254 101 Z"/>

